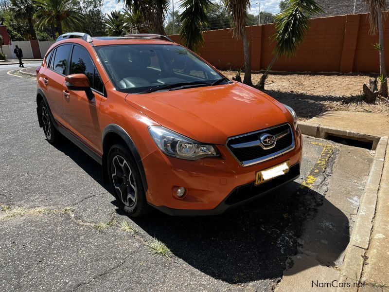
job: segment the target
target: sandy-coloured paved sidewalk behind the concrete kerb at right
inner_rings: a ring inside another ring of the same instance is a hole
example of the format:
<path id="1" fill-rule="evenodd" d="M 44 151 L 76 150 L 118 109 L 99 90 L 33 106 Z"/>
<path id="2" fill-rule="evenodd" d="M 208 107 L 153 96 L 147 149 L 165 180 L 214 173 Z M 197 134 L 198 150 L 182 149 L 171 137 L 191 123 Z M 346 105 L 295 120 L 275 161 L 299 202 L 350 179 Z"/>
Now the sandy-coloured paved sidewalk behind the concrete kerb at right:
<path id="1" fill-rule="evenodd" d="M 312 118 L 308 123 L 380 137 L 389 136 L 389 116 L 382 114 L 335 111 Z M 359 288 L 359 290 L 350 291 L 370 292 L 389 289 L 389 144 L 386 150 L 375 215 L 372 219 L 370 242 L 367 249 L 362 247 L 363 259 L 358 258 L 359 256 L 356 254 L 354 255 L 353 264 L 356 265 L 356 262 L 363 264 L 360 279 L 357 276 L 356 280 L 366 281 L 369 285 L 365 288 Z M 355 166 L 357 167 L 357 165 Z M 349 244 L 348 249 L 355 247 L 361 248 L 361 246 Z M 342 274 L 345 272 L 342 268 Z M 346 276 L 355 279 L 355 274 L 350 274 L 350 271 L 347 272 Z"/>

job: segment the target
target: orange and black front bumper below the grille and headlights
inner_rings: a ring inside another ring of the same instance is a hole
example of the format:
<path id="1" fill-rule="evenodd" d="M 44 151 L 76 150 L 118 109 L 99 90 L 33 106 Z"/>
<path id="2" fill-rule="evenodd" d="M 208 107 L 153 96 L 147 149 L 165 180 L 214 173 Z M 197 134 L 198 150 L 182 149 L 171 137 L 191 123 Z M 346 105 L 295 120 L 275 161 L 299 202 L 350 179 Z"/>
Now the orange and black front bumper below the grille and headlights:
<path id="1" fill-rule="evenodd" d="M 297 129 L 294 134 L 293 150 L 250 166 L 240 165 L 223 145 L 217 145 L 220 157 L 195 161 L 169 157 L 158 149 L 141 160 L 148 185 L 147 201 L 167 214 L 198 216 L 220 214 L 254 200 L 299 176 L 301 131 Z M 288 173 L 253 186 L 256 171 L 287 160 L 291 165 Z M 187 189 L 182 199 L 173 194 L 177 186 Z"/>

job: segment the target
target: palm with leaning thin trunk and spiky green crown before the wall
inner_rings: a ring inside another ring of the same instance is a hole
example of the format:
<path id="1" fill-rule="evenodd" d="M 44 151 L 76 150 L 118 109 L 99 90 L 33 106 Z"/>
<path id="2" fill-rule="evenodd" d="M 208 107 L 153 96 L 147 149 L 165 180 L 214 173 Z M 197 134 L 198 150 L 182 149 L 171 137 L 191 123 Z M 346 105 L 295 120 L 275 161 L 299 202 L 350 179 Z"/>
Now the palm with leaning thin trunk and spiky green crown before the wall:
<path id="1" fill-rule="evenodd" d="M 265 80 L 278 58 L 282 56 L 291 58 L 296 55 L 297 47 L 309 29 L 309 18 L 319 13 L 324 12 L 315 0 L 289 0 L 286 8 L 276 15 L 276 32 L 273 39 L 277 43 L 273 51 L 274 57 L 256 87 L 260 90 L 265 88 Z"/>

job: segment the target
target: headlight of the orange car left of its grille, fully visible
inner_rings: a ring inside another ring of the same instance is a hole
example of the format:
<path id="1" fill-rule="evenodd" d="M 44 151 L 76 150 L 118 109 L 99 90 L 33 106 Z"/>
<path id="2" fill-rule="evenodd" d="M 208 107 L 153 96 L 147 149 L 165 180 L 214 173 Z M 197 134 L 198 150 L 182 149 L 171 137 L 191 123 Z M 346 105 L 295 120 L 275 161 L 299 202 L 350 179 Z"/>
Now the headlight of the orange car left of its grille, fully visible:
<path id="1" fill-rule="evenodd" d="M 149 132 L 163 153 L 176 158 L 196 160 L 208 156 L 218 156 L 212 145 L 198 144 L 196 141 L 160 126 L 150 126 Z"/>

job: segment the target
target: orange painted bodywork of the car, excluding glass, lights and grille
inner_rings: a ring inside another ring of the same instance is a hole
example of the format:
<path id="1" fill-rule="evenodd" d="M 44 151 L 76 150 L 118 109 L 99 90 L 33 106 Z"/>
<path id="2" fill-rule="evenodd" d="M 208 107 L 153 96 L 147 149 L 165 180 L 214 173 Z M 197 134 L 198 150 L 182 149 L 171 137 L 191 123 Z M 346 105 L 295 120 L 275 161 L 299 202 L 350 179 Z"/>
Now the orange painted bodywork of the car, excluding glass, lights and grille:
<path id="1" fill-rule="evenodd" d="M 301 163 L 301 132 L 293 126 L 293 150 L 265 162 L 241 166 L 225 146 L 228 137 L 288 122 L 293 117 L 285 107 L 265 94 L 242 83 L 127 94 L 117 91 L 109 80 L 90 43 L 71 38 L 56 42 L 83 46 L 91 56 L 105 86 L 106 96 L 94 93 L 88 100 L 84 91 L 71 91 L 65 76 L 47 68 L 37 74 L 37 87 L 46 95 L 56 122 L 70 130 L 95 153 L 103 155 L 102 133 L 109 124 L 123 128 L 134 141 L 143 164 L 148 189 L 146 198 L 155 206 L 173 209 L 211 210 L 237 186 L 254 181 L 255 172 L 290 160 Z M 94 39 L 93 45 L 174 44 L 155 39 Z M 212 68 L 214 68 L 212 66 Z M 49 79 L 46 86 L 44 79 Z M 68 96 L 64 95 L 69 93 Z M 198 142 L 215 144 L 217 158 L 195 161 L 166 156 L 152 140 L 149 126 L 163 126 Z M 187 188 L 183 199 L 173 196 L 176 186 Z"/>

